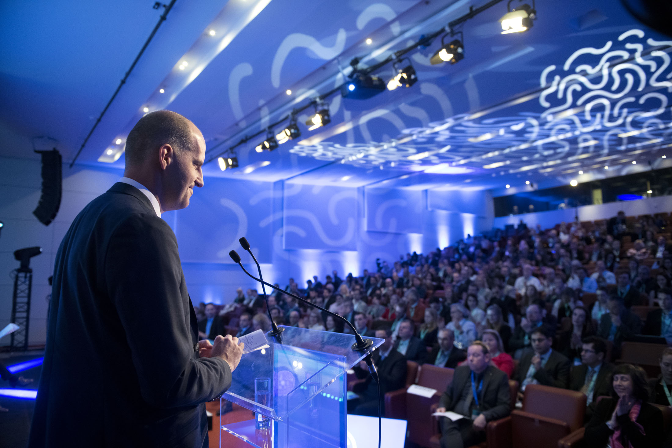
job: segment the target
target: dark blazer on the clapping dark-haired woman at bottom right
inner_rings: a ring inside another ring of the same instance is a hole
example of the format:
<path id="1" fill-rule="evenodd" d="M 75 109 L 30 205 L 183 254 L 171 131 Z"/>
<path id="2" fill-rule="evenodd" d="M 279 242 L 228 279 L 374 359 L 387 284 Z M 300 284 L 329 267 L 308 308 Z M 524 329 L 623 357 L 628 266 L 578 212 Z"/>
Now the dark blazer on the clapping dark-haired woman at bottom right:
<path id="1" fill-rule="evenodd" d="M 586 425 L 583 443 L 586 447 L 604 447 L 614 431 L 605 424 L 612 419 L 616 409 L 614 398 L 603 398 L 595 406 L 593 417 Z M 644 434 L 639 431 L 628 414 L 616 418 L 621 433 L 628 437 L 632 448 L 660 448 L 663 446 L 663 412 L 653 404 L 642 403 L 636 422 L 644 429 Z M 628 443 L 624 447 L 628 447 Z"/>

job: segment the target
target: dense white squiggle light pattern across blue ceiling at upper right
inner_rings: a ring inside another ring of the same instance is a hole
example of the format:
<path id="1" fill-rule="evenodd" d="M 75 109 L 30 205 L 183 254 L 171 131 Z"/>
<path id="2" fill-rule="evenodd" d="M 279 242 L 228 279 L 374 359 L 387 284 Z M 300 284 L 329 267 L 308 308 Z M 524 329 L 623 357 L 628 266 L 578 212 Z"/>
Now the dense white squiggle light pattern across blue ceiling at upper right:
<path id="1" fill-rule="evenodd" d="M 510 101 L 504 109 L 509 116 L 483 118 L 498 108 L 408 128 L 384 143 L 321 142 L 297 145 L 291 152 L 361 167 L 420 169 L 448 163 L 505 167 L 513 173 L 561 169 L 562 162 L 605 156 L 610 150 L 657 148 L 672 134 L 671 51 L 672 41 L 629 30 L 616 43 L 580 48 L 562 66 L 546 67 L 540 93 Z M 531 103 L 537 97 L 542 111 Z"/>

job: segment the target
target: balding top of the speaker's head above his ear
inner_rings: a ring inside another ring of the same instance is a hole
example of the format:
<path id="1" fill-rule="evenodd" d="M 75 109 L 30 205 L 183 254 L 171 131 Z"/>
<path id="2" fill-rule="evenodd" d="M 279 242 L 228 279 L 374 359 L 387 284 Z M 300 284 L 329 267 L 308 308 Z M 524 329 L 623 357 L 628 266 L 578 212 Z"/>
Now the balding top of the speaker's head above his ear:
<path id="1" fill-rule="evenodd" d="M 198 128 L 180 114 L 169 110 L 157 110 L 146 114 L 133 126 L 126 138 L 126 166 L 144 163 L 149 154 L 163 144 L 169 144 L 175 152 L 194 146 L 194 132 Z"/>

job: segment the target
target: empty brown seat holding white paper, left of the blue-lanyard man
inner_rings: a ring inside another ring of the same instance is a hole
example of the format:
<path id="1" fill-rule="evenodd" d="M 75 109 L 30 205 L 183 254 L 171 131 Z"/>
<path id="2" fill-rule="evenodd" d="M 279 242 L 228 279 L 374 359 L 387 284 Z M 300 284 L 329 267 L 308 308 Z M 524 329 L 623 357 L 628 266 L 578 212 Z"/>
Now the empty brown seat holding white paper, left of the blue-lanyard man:
<path id="1" fill-rule="evenodd" d="M 436 433 L 436 419 L 431 416 L 439 398 L 453 380 L 453 369 L 424 364 L 415 384 L 435 389 L 431 398 L 409 394 L 406 389 L 385 394 L 385 416 L 408 421 L 409 441 L 430 447 L 429 438 Z"/>

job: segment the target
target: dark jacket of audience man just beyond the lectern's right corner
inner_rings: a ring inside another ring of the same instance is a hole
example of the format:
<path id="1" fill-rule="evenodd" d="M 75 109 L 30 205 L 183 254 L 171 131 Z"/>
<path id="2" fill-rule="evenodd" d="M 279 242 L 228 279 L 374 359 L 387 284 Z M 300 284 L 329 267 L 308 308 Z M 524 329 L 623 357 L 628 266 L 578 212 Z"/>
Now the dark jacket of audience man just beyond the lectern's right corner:
<path id="1" fill-rule="evenodd" d="M 385 395 L 392 390 L 399 390 L 406 384 L 406 358 L 398 351 L 392 349 L 389 355 L 380 361 L 380 349 L 371 355 L 380 379 L 380 394 Z M 356 384 L 353 392 L 364 395 L 370 400 L 376 399 L 376 382 L 373 381 L 368 370 L 360 369 L 359 365 L 353 367 L 358 378 L 366 378 L 364 383 Z"/>

